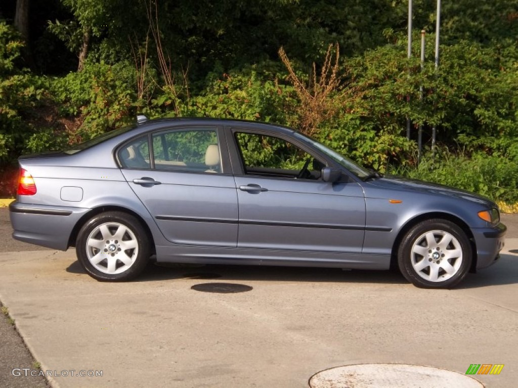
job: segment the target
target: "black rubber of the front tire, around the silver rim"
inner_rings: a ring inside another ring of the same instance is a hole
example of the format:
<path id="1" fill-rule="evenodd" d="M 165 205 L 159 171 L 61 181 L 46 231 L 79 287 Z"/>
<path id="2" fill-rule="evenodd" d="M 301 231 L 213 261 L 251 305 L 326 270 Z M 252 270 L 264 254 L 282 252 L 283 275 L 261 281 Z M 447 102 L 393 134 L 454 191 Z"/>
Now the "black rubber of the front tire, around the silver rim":
<path id="1" fill-rule="evenodd" d="M 462 248 L 462 264 L 457 273 L 444 281 L 429 281 L 415 272 L 411 262 L 412 247 L 418 237 L 426 232 L 441 230 L 453 235 Z M 430 219 L 413 226 L 403 237 L 398 249 L 398 266 L 401 274 L 413 285 L 420 288 L 451 288 L 461 282 L 467 275 L 472 262 L 471 244 L 466 233 L 455 223 L 444 219 Z"/>

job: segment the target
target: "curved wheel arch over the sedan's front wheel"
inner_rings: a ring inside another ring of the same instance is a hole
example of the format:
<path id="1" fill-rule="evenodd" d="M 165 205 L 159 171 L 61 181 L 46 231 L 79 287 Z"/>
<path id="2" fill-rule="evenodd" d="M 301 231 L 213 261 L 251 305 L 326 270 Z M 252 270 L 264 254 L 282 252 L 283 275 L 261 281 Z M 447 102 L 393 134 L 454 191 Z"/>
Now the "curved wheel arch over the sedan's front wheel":
<path id="1" fill-rule="evenodd" d="M 477 268 L 477 246 L 474 241 L 473 233 L 471 233 L 471 229 L 467 225 L 466 222 L 464 222 L 461 218 L 454 216 L 453 214 L 449 213 L 441 213 L 441 212 L 433 212 L 433 213 L 424 213 L 420 214 L 418 216 L 415 216 L 411 219 L 409 219 L 405 225 L 399 230 L 399 233 L 396 236 L 396 239 L 394 240 L 394 244 L 392 246 L 392 255 L 391 255 L 391 262 L 390 262 L 390 268 L 391 270 L 396 270 L 398 268 L 397 265 L 397 249 L 399 245 L 401 244 L 401 241 L 403 240 L 403 237 L 407 232 L 413 228 L 415 225 L 417 225 L 419 222 L 426 221 L 428 219 L 434 219 L 434 218 L 441 218 L 448 221 L 451 221 L 455 223 L 459 228 L 461 228 L 464 233 L 466 233 L 466 236 L 468 237 L 468 241 L 471 244 L 471 251 L 472 251 L 472 261 L 471 261 L 471 267 L 469 268 L 469 272 L 476 272 Z"/>

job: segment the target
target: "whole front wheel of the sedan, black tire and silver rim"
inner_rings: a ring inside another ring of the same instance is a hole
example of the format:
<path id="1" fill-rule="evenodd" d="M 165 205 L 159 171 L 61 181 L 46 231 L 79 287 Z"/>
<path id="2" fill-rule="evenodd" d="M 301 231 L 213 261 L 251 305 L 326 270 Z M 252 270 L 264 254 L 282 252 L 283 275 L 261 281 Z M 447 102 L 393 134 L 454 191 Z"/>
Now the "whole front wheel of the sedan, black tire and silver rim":
<path id="1" fill-rule="evenodd" d="M 401 274 L 420 288 L 451 288 L 471 267 L 472 251 L 466 233 L 455 223 L 430 219 L 413 226 L 397 252 Z"/>

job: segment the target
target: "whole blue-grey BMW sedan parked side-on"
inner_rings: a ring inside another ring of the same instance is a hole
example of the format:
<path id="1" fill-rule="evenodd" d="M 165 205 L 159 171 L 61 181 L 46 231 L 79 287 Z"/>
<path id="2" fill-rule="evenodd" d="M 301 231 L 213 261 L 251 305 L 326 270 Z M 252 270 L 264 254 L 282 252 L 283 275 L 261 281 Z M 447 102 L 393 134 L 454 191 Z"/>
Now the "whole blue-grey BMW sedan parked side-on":
<path id="1" fill-rule="evenodd" d="M 493 264 L 497 205 L 384 177 L 277 125 L 147 120 L 61 151 L 22 156 L 9 208 L 17 240 L 75 247 L 97 280 L 157 262 L 388 270 L 450 288 Z"/>

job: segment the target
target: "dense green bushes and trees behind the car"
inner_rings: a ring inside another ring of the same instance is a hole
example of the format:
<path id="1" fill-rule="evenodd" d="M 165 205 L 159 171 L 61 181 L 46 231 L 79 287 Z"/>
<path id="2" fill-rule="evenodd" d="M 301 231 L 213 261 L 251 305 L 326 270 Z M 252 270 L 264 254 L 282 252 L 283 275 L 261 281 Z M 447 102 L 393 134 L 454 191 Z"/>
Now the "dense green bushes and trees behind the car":
<path id="1" fill-rule="evenodd" d="M 319 101 L 326 114 L 311 123 L 317 140 L 382 172 L 397 166 L 406 175 L 494 199 L 516 199 L 518 0 L 444 3 L 437 70 L 431 58 L 434 35 L 429 34 L 435 31 L 435 3 L 424 0 L 414 1 L 411 59 L 406 54 L 407 1 L 60 3 L 61 11 L 49 18 L 57 19 L 49 23 L 49 31 L 74 52 L 73 60 L 85 33 L 91 37 L 89 60 L 78 73 L 48 79 L 22 69 L 23 44 L 16 31 L 0 21 L 4 164 L 22 152 L 61 147 L 126 125 L 137 112 L 239 118 L 305 129 L 301 112 L 318 109 L 300 97 L 278 49 L 284 47 L 298 69 L 295 76 L 310 85 L 312 72 L 318 75 L 325 68 L 327 47 L 338 42 L 348 59 L 338 71 L 344 76 Z M 56 2 L 48 7 L 56 7 Z M 151 17 L 156 11 L 153 23 L 160 43 L 151 39 L 150 10 Z M 428 33 L 422 68 L 420 28 Z M 162 63 L 157 46 L 162 47 Z M 39 47 L 34 52 L 47 50 Z M 55 65 L 47 55 L 46 61 Z M 407 117 L 412 122 L 410 141 Z M 442 160 L 428 155 L 415 167 L 418 125 L 428 147 L 431 127 L 437 127 L 437 141 L 445 151 L 435 155 Z M 262 165 L 275 159 L 274 148 L 247 139 L 251 160 Z M 289 166 L 289 159 L 282 163 Z"/>

